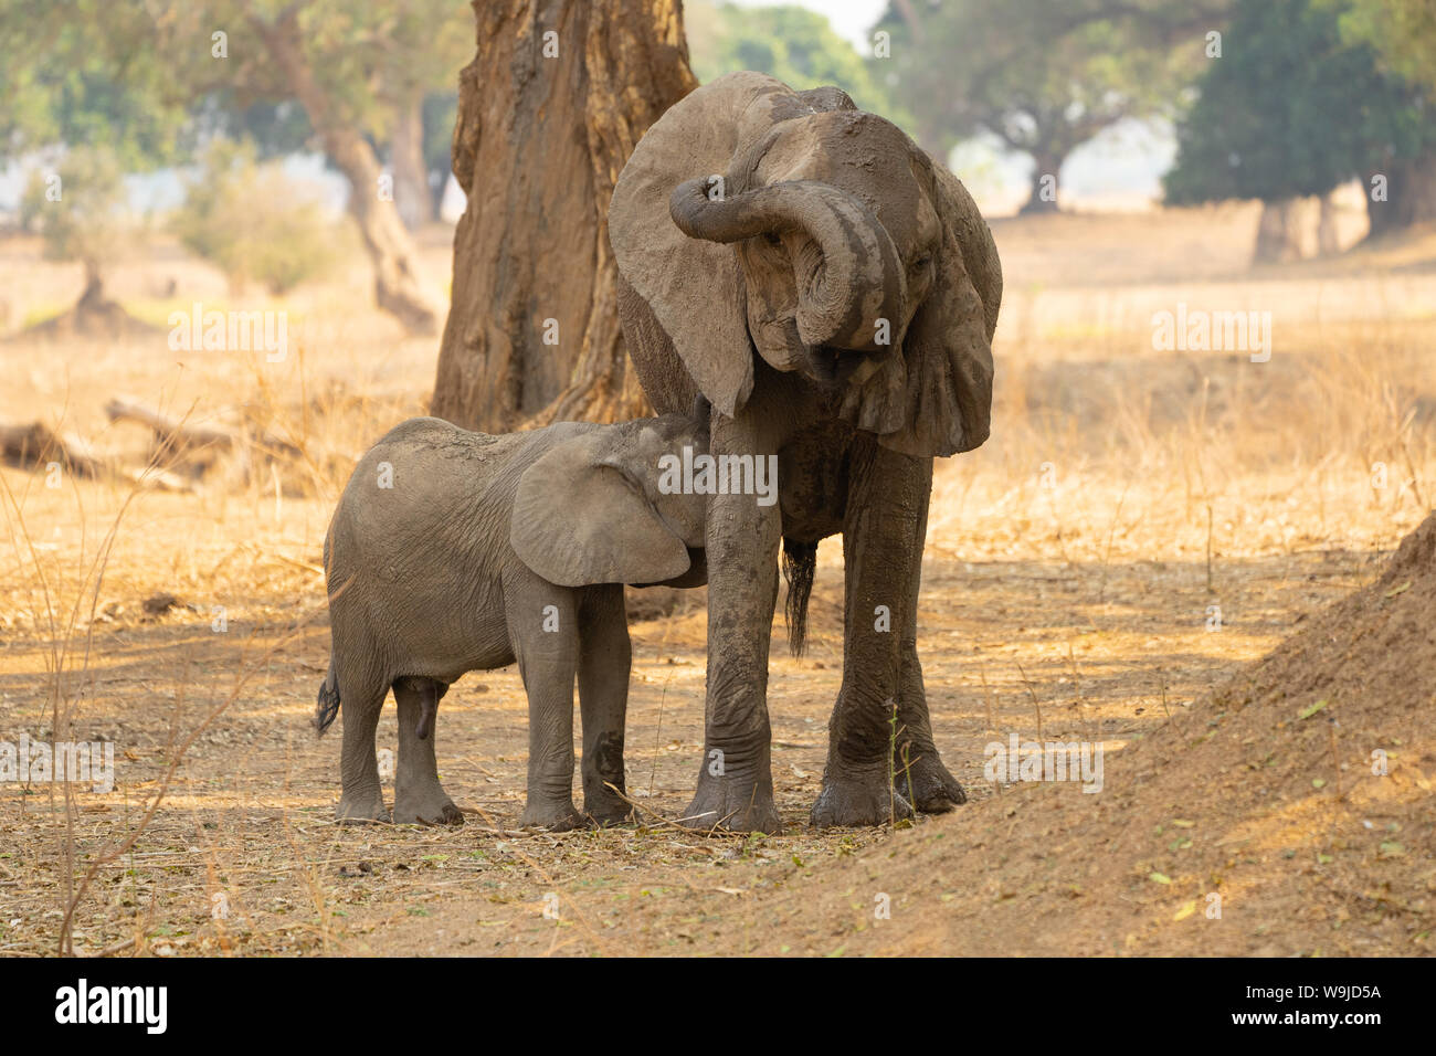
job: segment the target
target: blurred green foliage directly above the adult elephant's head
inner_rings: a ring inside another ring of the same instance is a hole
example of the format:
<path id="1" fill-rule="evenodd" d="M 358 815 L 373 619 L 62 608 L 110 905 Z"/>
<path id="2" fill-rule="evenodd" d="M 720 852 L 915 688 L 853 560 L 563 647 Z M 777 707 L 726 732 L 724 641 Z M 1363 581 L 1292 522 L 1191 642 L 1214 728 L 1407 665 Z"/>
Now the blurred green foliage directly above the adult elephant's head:
<path id="1" fill-rule="evenodd" d="M 704 83 L 735 70 L 757 70 L 798 91 L 836 85 L 860 109 L 902 124 L 882 80 L 829 20 L 806 7 L 684 6 L 694 75 Z"/>

